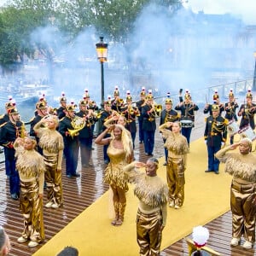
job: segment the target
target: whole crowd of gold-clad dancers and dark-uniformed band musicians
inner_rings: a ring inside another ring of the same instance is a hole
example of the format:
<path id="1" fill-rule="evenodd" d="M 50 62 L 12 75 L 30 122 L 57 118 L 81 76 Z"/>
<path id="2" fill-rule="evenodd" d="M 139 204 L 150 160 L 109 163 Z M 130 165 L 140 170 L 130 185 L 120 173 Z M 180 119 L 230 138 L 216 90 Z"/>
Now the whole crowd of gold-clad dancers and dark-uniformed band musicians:
<path id="1" fill-rule="evenodd" d="M 229 102 L 223 104 L 219 102 L 216 91 L 212 96 L 213 103 L 207 103 L 203 109 L 208 114 L 204 132 L 208 155 L 205 172 L 218 174 L 220 160 L 227 163 L 227 172 L 234 176 L 231 187 L 231 245 L 238 245 L 244 236 L 246 242 L 243 247 L 251 248 L 255 241 L 256 162 L 251 148 L 256 104 L 251 90 L 247 91 L 246 101 L 240 107 L 233 90 L 228 97 Z M 147 93 L 145 88 L 140 92 L 140 100 L 133 102 L 129 91 L 124 101 L 116 87 L 113 99 L 109 97 L 101 109 L 90 100 L 88 90 L 84 91 L 79 106 L 74 102 L 67 103 L 67 97 L 62 93 L 60 107 L 50 108 L 42 96 L 36 104 L 34 117 L 26 123 L 20 120 L 20 113 L 11 97 L 5 108 L 6 113 L 0 118 L 0 145 L 4 148 L 10 196 L 13 200 L 20 199 L 20 211 L 24 217 L 24 230 L 18 242 L 29 241 L 28 246 L 35 247 L 44 241 L 44 189 L 47 193 L 45 207 L 63 207 L 63 155 L 67 178 L 80 177 L 77 171 L 79 152 L 81 166 L 91 166 L 94 130 L 96 122 L 99 122 L 101 132 L 95 143 L 102 145 L 103 161 L 108 165 L 104 182 L 113 192 L 115 216 L 111 224 L 123 224 L 125 192 L 129 182 L 135 183 L 135 195 L 139 199 L 137 242 L 140 255 L 159 255 L 161 231 L 166 224 L 166 205 L 179 209 L 184 201 L 190 136 L 195 127 L 195 113 L 199 110 L 189 90 L 184 95 L 183 90 L 179 91 L 175 107 L 170 95 L 166 96 L 162 106 L 154 101 L 152 91 Z M 237 124 L 237 116 L 241 117 L 240 125 Z M 158 118 L 165 148 L 166 183 L 157 176 L 159 161 L 153 157 Z M 147 163 L 135 161 L 133 150 L 137 123 L 139 143 L 143 144 L 144 154 L 150 157 Z M 26 131 L 26 125 L 30 125 L 30 131 Z M 228 133 L 230 146 L 226 142 Z M 240 142 L 234 140 L 236 133 L 243 136 Z M 226 154 L 237 147 L 239 154 Z M 145 168 L 145 172 L 140 172 L 140 168 Z"/>

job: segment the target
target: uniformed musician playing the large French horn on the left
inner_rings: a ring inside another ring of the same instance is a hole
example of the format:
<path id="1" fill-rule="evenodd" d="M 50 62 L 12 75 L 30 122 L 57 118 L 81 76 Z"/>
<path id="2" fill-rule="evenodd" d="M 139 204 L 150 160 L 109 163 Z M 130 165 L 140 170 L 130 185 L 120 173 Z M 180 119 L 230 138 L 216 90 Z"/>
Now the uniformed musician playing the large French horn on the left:
<path id="1" fill-rule="evenodd" d="M 64 154 L 66 158 L 66 174 L 67 177 L 80 177 L 77 172 L 79 161 L 79 134 L 71 134 L 70 131 L 76 130 L 73 127 L 73 119 L 75 118 L 76 105 L 67 104 L 65 117 L 60 120 L 59 132 L 64 140 Z"/>

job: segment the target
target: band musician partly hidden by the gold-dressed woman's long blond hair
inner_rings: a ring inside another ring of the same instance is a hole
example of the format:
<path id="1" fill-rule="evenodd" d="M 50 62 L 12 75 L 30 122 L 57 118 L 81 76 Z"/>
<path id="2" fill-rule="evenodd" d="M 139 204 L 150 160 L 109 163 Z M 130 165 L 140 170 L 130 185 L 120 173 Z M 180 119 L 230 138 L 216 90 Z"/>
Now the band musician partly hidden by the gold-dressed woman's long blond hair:
<path id="1" fill-rule="evenodd" d="M 130 95 L 130 90 L 127 91 L 126 96 L 126 106 L 122 108 L 122 115 L 125 116 L 126 124 L 125 128 L 131 132 L 131 139 L 133 144 L 133 149 L 135 148 L 135 138 L 137 132 L 136 126 L 136 117 L 140 116 L 140 112 L 137 107 L 133 107 L 132 105 L 132 97 Z"/>

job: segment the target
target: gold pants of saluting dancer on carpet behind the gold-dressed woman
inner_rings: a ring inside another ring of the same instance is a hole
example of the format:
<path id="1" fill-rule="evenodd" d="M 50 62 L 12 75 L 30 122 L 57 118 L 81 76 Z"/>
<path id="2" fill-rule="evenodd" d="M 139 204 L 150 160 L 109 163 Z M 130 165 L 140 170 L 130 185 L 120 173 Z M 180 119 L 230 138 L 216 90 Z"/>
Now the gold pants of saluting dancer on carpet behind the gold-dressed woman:
<path id="1" fill-rule="evenodd" d="M 184 201 L 184 161 L 183 157 L 168 157 L 166 180 L 169 188 L 169 202 L 181 207 Z"/>

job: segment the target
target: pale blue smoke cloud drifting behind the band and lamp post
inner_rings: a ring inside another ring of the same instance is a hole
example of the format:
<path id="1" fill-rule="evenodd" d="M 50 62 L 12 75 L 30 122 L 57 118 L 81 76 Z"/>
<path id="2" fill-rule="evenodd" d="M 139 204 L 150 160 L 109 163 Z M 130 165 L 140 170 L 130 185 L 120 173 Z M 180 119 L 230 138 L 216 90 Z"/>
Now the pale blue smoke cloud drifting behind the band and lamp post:
<path id="1" fill-rule="evenodd" d="M 103 35 L 108 43 L 105 99 L 113 96 L 115 85 L 123 98 L 126 90 L 131 90 L 136 100 L 142 86 L 154 90 L 155 96 L 166 96 L 179 88 L 193 92 L 213 84 L 252 79 L 256 32 L 247 29 L 232 15 L 195 15 L 191 9 L 181 9 L 172 17 L 170 10 L 149 5 L 138 17 L 126 45 L 113 44 Z M 26 79 L 47 81 L 51 76 L 55 99 L 65 91 L 68 100 L 78 102 L 87 88 L 90 98 L 101 102 L 98 36 L 90 28 L 67 44 L 54 25 L 38 28 L 32 33 L 32 42 L 49 45 L 54 65 L 41 62 L 44 56 L 39 54 L 39 69 L 26 71 Z"/>

